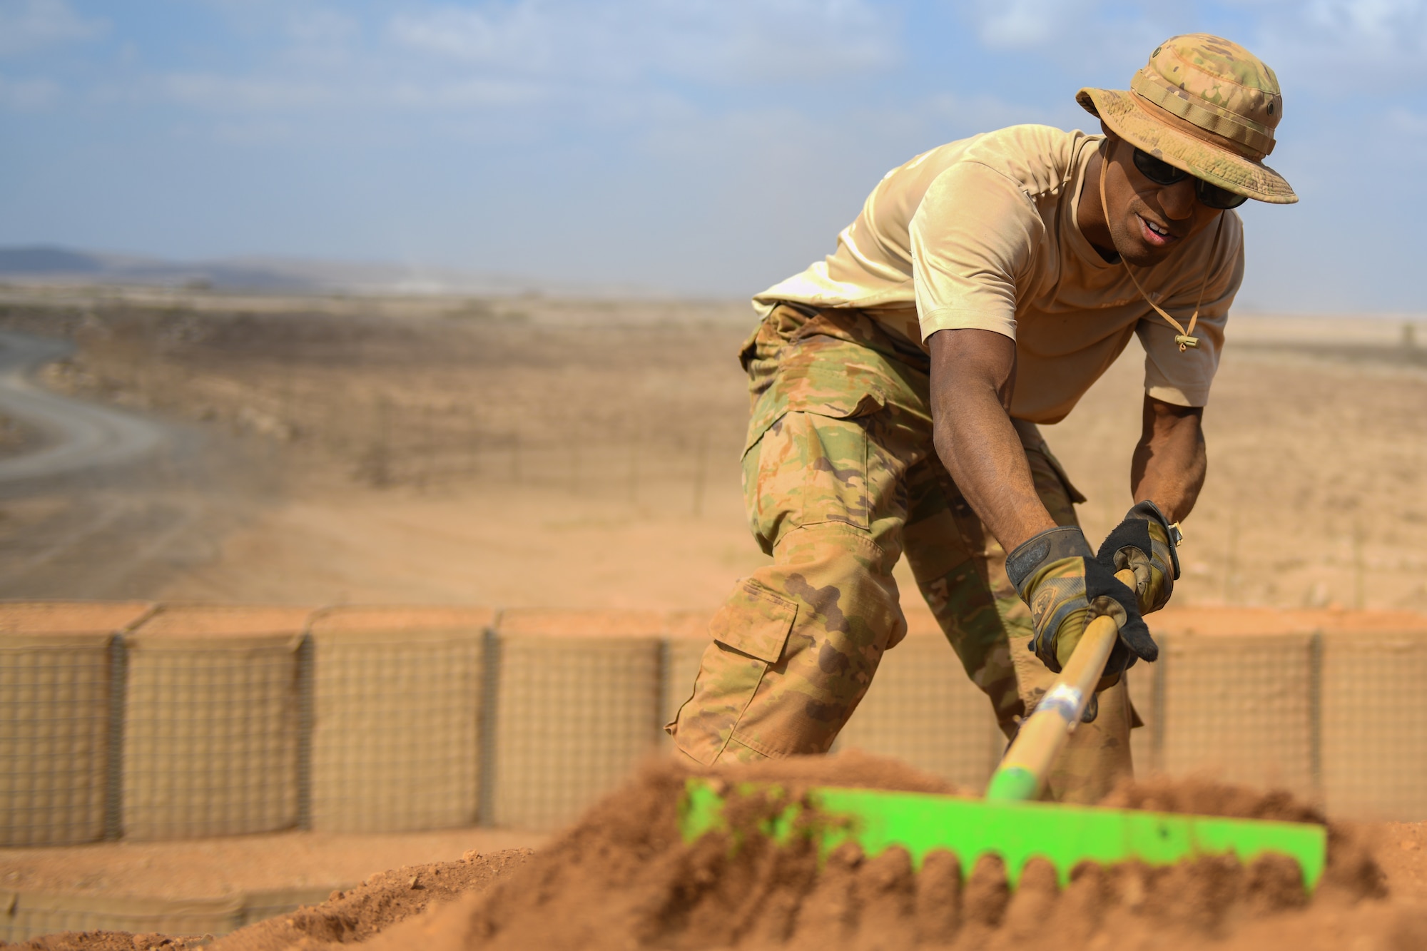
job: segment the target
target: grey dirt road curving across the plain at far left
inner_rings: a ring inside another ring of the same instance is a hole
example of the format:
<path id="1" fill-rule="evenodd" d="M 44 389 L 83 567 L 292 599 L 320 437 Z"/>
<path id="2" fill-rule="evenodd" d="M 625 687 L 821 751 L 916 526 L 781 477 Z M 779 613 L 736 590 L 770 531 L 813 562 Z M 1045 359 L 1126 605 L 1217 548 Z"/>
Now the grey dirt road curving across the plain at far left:
<path id="1" fill-rule="evenodd" d="M 243 453 L 40 388 L 33 374 L 71 350 L 0 333 L 0 414 L 26 433 L 0 458 L 0 597 L 150 597 L 251 513 L 251 480 L 231 478 Z"/>

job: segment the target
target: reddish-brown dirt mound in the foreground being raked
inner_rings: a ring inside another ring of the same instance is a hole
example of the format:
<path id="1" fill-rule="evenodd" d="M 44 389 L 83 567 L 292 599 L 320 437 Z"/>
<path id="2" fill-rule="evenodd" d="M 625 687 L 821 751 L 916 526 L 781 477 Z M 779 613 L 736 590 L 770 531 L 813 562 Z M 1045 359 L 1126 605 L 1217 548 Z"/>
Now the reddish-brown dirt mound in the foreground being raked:
<path id="1" fill-rule="evenodd" d="M 776 780 L 795 797 L 813 784 L 948 791 L 940 780 L 862 754 L 709 774 L 725 781 Z M 1013 948 L 1047 938 L 1066 951 L 1427 947 L 1427 904 L 1413 901 L 1420 890 L 1388 890 L 1421 874 L 1417 865 L 1410 872 L 1404 867 L 1421 855 L 1417 827 L 1384 827 L 1387 834 L 1374 837 L 1363 827 L 1330 824 L 1329 868 L 1311 901 L 1303 897 L 1296 867 L 1271 857 L 1247 867 L 1219 858 L 1173 868 L 1085 864 L 1065 891 L 1057 890 L 1047 864 L 1032 862 L 1012 892 L 1000 862 L 992 858 L 982 858 L 963 885 L 949 852 L 932 854 L 913 874 L 900 850 L 866 860 L 849 845 L 816 874 L 811 847 L 773 848 L 748 837 L 731 857 L 721 834 L 684 845 L 675 822 L 686 775 L 681 764 L 649 764 L 537 854 L 502 852 L 385 872 L 321 905 L 205 945 L 160 945 L 157 935 L 146 935 L 148 944 L 131 935 L 51 935 L 20 947 L 278 951 L 341 942 L 374 951 L 833 951 Z M 1311 807 L 1286 794 L 1206 780 L 1126 784 L 1106 804 L 1321 821 Z M 731 797 L 728 815 L 733 828 L 743 828 L 771 808 L 759 795 Z"/>

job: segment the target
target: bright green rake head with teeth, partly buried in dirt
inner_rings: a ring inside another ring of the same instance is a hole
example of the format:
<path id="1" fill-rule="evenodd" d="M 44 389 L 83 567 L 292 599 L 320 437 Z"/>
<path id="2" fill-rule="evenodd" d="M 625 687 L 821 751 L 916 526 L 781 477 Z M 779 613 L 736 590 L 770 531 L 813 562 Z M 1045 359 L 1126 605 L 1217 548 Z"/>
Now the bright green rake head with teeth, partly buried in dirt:
<path id="1" fill-rule="evenodd" d="M 709 780 L 688 780 L 679 804 L 685 842 L 711 831 L 732 831 L 738 848 L 742 832 L 729 827 L 728 797 L 719 792 L 721 787 Z M 733 794 L 759 795 L 772 804 L 773 811 L 758 824 L 758 831 L 779 845 L 805 835 L 815 840 L 823 858 L 849 841 L 858 842 L 869 858 L 900 845 L 912 855 L 913 868 L 922 867 L 928 852 L 945 848 L 960 860 L 963 877 L 980 855 L 999 855 L 1012 888 L 1035 857 L 1047 860 L 1065 887 L 1070 870 L 1087 860 L 1106 865 L 1124 861 L 1173 865 L 1206 855 L 1236 855 L 1249 862 L 1279 854 L 1299 862 L 1303 887 L 1311 894 L 1327 860 L 1327 830 L 1304 822 L 835 787 L 809 790 L 793 800 L 782 787 L 752 783 L 735 785 Z M 782 800 L 786 805 L 781 805 Z"/>

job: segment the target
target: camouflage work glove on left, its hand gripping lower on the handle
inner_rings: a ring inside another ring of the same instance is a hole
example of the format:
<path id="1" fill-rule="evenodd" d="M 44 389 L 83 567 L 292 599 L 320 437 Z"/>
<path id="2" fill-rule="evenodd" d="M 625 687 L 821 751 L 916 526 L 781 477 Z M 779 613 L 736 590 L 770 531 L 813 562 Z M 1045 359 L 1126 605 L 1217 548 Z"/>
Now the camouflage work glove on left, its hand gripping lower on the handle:
<path id="1" fill-rule="evenodd" d="M 1035 625 L 1030 650 L 1052 671 L 1062 671 L 1086 624 L 1100 615 L 1110 615 L 1120 625 L 1120 641 L 1110 651 L 1096 690 L 1113 687 L 1142 657 L 1147 661 L 1159 657 L 1134 593 L 1095 558 L 1079 528 L 1050 528 L 1030 537 L 1006 557 L 1006 574 L 1030 607 Z"/>

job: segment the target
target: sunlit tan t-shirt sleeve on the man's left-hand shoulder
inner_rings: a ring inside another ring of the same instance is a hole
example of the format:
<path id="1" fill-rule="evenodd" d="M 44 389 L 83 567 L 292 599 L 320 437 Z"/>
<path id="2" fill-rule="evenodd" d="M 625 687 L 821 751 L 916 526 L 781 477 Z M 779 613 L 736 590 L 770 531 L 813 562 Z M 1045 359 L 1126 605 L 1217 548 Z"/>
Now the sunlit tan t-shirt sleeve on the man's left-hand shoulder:
<path id="1" fill-rule="evenodd" d="M 968 327 L 1015 340 L 1016 284 L 1045 231 L 1020 186 L 980 163 L 958 163 L 928 188 L 909 231 L 922 340 Z"/>

